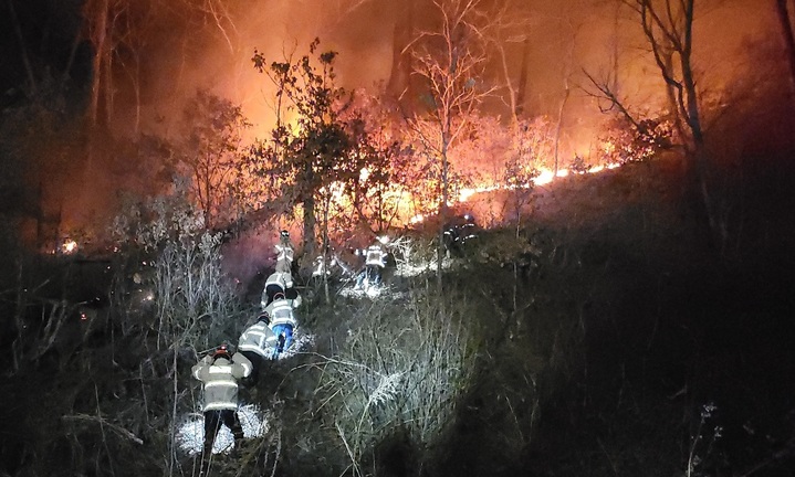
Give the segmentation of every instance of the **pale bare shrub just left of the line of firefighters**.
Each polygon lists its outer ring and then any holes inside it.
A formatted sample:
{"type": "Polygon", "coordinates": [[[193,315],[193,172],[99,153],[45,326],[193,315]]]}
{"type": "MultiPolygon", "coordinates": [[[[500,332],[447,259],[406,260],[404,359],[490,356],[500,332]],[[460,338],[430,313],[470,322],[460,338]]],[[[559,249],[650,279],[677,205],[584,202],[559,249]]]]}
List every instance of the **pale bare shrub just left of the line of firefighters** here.
{"type": "Polygon", "coordinates": [[[129,273],[154,286],[154,331],[158,344],[207,348],[221,335],[239,303],[221,272],[222,234],[207,230],[205,213],[186,201],[187,181],[177,193],[126,201],[112,224],[116,246],[134,262],[129,273]]]}

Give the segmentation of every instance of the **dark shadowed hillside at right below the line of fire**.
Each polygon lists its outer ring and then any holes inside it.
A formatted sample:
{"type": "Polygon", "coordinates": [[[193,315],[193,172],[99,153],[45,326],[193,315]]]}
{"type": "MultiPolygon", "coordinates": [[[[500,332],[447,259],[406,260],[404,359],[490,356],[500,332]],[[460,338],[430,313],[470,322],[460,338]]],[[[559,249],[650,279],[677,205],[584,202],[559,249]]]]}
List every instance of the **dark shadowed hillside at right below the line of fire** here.
{"type": "Polygon", "coordinates": [[[786,475],[795,182],[730,172],[712,233],[676,158],[536,190],[529,305],[462,411],[450,475],[786,475]]]}

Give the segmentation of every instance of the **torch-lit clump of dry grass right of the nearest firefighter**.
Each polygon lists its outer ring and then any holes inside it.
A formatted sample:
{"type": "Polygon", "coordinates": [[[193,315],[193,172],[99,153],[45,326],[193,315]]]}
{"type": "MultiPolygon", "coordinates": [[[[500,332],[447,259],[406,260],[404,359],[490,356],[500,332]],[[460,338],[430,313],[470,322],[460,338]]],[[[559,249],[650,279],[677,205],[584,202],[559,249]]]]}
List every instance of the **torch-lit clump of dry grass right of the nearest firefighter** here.
{"type": "Polygon", "coordinates": [[[412,296],[409,307],[385,300],[358,310],[360,327],[338,354],[316,364],[323,371],[317,415],[336,434],[329,447],[347,456],[354,476],[370,475],[363,465],[399,432],[420,463],[427,459],[471,383],[477,344],[467,298],[412,296]]]}

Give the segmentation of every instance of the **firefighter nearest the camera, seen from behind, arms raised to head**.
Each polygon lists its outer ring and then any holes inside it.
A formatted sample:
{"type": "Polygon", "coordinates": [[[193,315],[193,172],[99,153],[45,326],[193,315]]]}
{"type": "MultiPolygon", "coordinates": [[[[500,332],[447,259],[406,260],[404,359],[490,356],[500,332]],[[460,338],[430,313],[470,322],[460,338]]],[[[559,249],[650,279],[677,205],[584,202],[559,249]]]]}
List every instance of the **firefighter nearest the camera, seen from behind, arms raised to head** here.
{"type": "Polygon", "coordinates": [[[243,427],[238,417],[238,381],[251,374],[251,363],[240,353],[232,356],[227,346],[221,344],[193,365],[192,374],[202,383],[205,400],[205,447],[201,454],[205,475],[221,423],[232,432],[237,448],[243,442],[243,427]]]}

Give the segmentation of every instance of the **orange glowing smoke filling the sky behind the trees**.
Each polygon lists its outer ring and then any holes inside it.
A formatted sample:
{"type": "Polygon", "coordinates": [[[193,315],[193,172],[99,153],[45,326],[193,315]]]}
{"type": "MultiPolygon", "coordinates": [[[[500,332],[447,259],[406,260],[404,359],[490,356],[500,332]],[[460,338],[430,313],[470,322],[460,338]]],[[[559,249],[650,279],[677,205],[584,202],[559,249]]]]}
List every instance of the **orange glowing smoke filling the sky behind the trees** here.
{"type": "MultiPolygon", "coordinates": [[[[273,85],[253,68],[254,50],[269,61],[307,53],[320,38],[321,50],[339,53],[336,61],[342,86],[374,87],[389,80],[395,22],[400,9],[414,3],[416,28],[433,24],[430,0],[251,0],[182,3],[180,14],[167,14],[167,28],[157,30],[146,51],[147,92],[145,124],[160,127],[164,117],[176,117],[186,98],[206,88],[242,105],[254,124],[252,135],[263,137],[273,123],[273,85]]],[[[502,4],[498,0],[484,6],[502,4]]],[[[621,91],[638,103],[659,94],[661,80],[644,51],[639,25],[617,2],[543,0],[509,2],[513,26],[506,30],[508,81],[516,87],[522,65],[522,42],[531,43],[525,110],[557,116],[565,86],[569,87],[564,114],[564,136],[582,142],[577,129],[590,129],[599,110],[585,94],[583,71],[607,74],[618,68],[621,91]]],[[[765,31],[766,11],[753,0],[698,2],[697,55],[704,73],[722,74],[736,55],[740,42],[765,31]],[[701,6],[704,6],[703,8],[701,6]],[[728,34],[731,32],[731,34],[728,34]],[[716,64],[715,64],[716,63],[716,64]]],[[[772,10],[772,8],[771,8],[772,10]]],[[[771,24],[771,23],[768,23],[771,24]]],[[[770,30],[770,29],[767,29],[770,30]]],[[[505,82],[500,61],[492,60],[493,81],[505,82]]],[[[505,89],[503,89],[504,94],[505,89]]],[[[504,98],[503,98],[504,99],[504,98]]],[[[496,113],[503,117],[502,110],[496,113]]],[[[495,104],[500,104],[500,100],[495,104]]]]}

